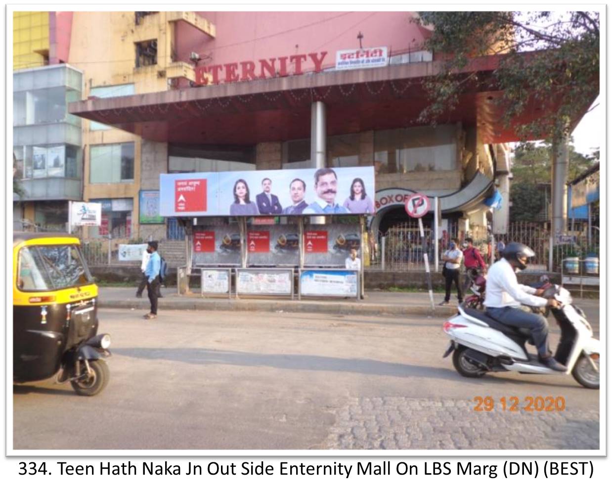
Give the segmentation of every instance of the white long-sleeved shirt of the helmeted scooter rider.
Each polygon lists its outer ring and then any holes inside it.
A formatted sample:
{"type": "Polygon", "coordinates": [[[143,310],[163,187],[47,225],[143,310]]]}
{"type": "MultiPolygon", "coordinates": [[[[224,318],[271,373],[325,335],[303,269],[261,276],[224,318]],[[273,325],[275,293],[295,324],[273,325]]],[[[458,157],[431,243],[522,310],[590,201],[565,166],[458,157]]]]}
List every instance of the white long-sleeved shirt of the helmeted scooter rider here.
{"type": "Polygon", "coordinates": [[[493,308],[519,307],[521,304],[543,307],[548,300],[531,296],[535,289],[518,283],[517,274],[506,258],[502,258],[490,267],[487,275],[485,306],[493,308]]]}

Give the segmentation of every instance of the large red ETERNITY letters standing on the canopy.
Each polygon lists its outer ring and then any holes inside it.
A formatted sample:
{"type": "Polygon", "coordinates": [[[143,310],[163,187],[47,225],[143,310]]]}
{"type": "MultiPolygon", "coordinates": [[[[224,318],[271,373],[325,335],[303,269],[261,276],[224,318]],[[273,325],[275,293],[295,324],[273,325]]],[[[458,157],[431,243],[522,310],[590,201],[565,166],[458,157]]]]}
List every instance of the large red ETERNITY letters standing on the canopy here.
{"type": "MultiPolygon", "coordinates": [[[[368,52],[369,53],[369,52],[368,52]]],[[[225,73],[225,82],[236,82],[239,80],[255,80],[256,78],[266,78],[266,76],[286,77],[289,75],[288,67],[293,65],[293,75],[304,73],[303,64],[308,59],[315,65],[315,73],[323,70],[323,59],[327,51],[320,53],[292,54],[291,56],[279,56],[278,58],[261,59],[257,62],[245,60],[241,62],[231,62],[223,65],[206,65],[195,67],[195,82],[198,85],[206,85],[207,75],[212,75],[212,84],[222,81],[221,73],[225,73]]]]}

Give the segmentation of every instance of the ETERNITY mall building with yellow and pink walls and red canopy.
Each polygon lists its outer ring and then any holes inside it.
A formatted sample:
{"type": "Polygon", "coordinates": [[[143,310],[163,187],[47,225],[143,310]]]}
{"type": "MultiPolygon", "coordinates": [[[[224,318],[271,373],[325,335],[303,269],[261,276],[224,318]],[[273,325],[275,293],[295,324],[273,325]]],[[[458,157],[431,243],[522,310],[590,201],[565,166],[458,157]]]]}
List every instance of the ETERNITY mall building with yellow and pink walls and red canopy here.
{"type": "MultiPolygon", "coordinates": [[[[143,194],[159,190],[162,173],[324,166],[375,166],[376,190],[366,190],[376,198],[373,231],[405,222],[402,197],[416,191],[441,197],[449,228],[485,228],[490,209],[483,202],[496,189],[505,199],[493,212],[493,226],[502,231],[509,205],[506,143],[518,139],[501,125],[500,94],[468,88],[435,127],[419,124],[427,105],[424,81],[441,65],[422,48],[430,31],[411,23],[413,15],[74,12],[69,23],[52,21],[49,29],[64,33],[48,43],[61,47],[63,58],[43,57],[38,62],[51,65],[40,68],[19,65],[13,80],[24,74],[39,80],[37,73],[53,70],[69,74],[61,86],[67,113],[52,124],[76,133],[66,130],[64,140],[53,142],[15,138],[24,170],[23,217],[50,220],[37,212],[35,190],[51,193],[57,177],[48,165],[44,177],[36,174],[28,150],[44,145],[65,149],[54,220],[64,217],[64,206],[67,220],[68,199],[102,203],[103,224],[85,231],[89,237],[179,239],[176,220],[149,220],[141,209],[143,194]]],[[[13,24],[17,32],[18,13],[13,24]]],[[[490,56],[466,70],[485,79],[497,66],[498,57],[490,56]]],[[[27,126],[34,99],[20,84],[14,100],[25,101],[19,121],[25,118],[27,126]]],[[[15,135],[22,131],[17,127],[15,135]]]]}

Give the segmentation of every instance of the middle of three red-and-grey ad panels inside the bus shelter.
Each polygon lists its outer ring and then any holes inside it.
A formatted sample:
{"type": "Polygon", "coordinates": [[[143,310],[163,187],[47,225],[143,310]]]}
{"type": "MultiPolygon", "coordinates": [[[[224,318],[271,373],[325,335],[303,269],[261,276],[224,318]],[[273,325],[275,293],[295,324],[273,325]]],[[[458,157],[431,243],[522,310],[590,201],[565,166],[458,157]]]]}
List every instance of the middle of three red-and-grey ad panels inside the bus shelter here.
{"type": "Polygon", "coordinates": [[[251,226],[247,231],[248,264],[298,265],[299,243],[296,225],[251,226]]]}

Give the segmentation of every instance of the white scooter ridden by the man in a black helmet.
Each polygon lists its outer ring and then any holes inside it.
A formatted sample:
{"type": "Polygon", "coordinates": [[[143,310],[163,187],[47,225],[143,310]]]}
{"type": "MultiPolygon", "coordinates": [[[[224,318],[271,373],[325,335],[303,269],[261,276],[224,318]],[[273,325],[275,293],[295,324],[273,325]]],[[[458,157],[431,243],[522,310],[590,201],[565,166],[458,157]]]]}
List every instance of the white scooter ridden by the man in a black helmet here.
{"type": "Polygon", "coordinates": [[[600,341],[593,337],[584,311],[572,304],[567,289],[550,286],[543,293],[554,297],[561,307],[551,309],[561,327],[561,340],[554,358],[567,367],[565,373],[554,371],[529,354],[525,343],[533,344],[529,329],[510,327],[490,318],[482,311],[459,307],[459,314],[448,319],[442,329],[449,335],[453,365],[461,376],[480,378],[488,372],[518,371],[529,374],[565,374],[582,386],[599,388],[600,341]]]}

